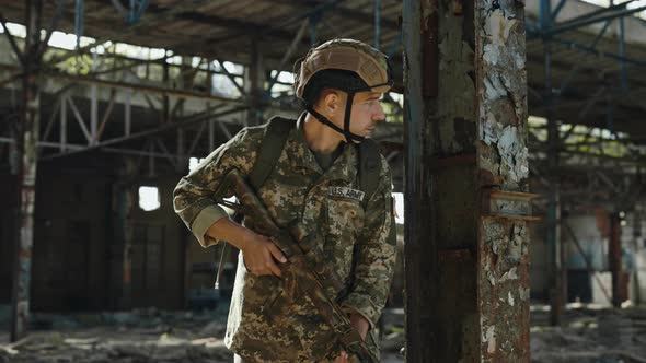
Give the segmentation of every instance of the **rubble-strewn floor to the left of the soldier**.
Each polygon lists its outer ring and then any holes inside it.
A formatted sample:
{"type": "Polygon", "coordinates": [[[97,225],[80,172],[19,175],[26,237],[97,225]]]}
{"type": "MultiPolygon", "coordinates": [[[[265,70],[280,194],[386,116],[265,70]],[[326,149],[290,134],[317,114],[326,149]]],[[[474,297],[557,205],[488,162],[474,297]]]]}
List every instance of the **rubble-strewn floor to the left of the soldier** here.
{"type": "Polygon", "coordinates": [[[0,362],[137,363],[231,362],[222,338],[226,314],[131,313],[34,314],[30,335],[9,343],[0,333],[0,362]]]}

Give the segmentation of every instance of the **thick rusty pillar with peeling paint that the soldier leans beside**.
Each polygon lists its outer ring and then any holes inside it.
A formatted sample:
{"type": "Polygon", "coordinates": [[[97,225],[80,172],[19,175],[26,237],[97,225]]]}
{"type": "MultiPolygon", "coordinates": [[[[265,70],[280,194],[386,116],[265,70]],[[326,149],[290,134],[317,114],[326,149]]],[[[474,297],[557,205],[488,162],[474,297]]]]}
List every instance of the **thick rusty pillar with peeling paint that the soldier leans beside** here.
{"type": "Polygon", "coordinates": [[[529,362],[523,1],[405,0],[407,362],[529,362]]]}

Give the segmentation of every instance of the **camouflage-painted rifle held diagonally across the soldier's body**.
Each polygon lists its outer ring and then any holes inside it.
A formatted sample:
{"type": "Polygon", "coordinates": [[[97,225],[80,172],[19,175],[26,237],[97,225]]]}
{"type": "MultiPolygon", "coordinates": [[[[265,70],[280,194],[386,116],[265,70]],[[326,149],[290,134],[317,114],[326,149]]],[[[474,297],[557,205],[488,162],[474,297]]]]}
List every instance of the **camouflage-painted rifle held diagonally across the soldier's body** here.
{"type": "Polygon", "coordinates": [[[335,298],[327,295],[326,291],[341,291],[343,284],[335,271],[321,262],[322,253],[315,238],[307,235],[296,223],[287,230],[276,225],[266,207],[235,168],[227,173],[217,195],[229,194],[238,198],[240,204],[237,208],[253,221],[255,232],[270,237],[287,257],[287,262],[280,265],[286,293],[292,298],[299,292],[308,294],[348,353],[357,355],[361,362],[378,363],[379,360],[368,350],[335,298]]]}

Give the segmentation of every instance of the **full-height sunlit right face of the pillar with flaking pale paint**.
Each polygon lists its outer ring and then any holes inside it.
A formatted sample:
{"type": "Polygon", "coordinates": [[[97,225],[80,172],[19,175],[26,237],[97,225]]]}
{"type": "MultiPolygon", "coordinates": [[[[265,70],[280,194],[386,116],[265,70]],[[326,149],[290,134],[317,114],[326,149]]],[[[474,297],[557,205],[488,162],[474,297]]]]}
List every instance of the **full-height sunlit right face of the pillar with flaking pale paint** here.
{"type": "MultiPolygon", "coordinates": [[[[528,191],[523,2],[482,1],[475,10],[477,167],[484,189],[528,191]]],[[[486,197],[487,194],[483,194],[486,197]]],[[[481,362],[529,362],[529,199],[494,200],[481,214],[481,362]]]]}

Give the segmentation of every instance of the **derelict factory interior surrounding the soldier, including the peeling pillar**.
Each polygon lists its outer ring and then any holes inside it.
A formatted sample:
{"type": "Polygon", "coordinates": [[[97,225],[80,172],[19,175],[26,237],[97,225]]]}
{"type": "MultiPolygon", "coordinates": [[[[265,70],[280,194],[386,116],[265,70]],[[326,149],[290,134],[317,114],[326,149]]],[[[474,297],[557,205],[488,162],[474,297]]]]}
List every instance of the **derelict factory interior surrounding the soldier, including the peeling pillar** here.
{"type": "Polygon", "coordinates": [[[0,363],[232,362],[237,254],[173,189],[298,118],[295,63],[334,38],[394,74],[381,361],[646,362],[645,0],[0,0],[0,363]]]}

